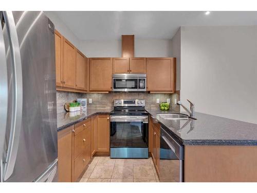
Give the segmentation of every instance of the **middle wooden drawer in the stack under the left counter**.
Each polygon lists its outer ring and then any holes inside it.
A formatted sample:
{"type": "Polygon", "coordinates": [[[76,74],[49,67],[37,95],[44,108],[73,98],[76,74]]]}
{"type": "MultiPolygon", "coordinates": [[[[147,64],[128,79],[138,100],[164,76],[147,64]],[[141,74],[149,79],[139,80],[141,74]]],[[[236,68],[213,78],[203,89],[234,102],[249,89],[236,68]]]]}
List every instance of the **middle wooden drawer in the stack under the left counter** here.
{"type": "Polygon", "coordinates": [[[86,147],[90,147],[90,127],[74,137],[74,157],[76,158],[86,147]]]}

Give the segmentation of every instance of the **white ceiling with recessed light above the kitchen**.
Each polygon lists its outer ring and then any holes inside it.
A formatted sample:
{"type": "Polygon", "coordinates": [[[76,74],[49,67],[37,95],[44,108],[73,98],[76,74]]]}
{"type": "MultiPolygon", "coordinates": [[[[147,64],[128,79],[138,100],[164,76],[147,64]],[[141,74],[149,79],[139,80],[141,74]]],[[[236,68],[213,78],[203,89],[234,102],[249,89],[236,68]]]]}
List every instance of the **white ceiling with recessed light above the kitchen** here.
{"type": "Polygon", "coordinates": [[[80,40],[171,39],[180,26],[257,25],[257,11],[54,11],[80,40]]]}

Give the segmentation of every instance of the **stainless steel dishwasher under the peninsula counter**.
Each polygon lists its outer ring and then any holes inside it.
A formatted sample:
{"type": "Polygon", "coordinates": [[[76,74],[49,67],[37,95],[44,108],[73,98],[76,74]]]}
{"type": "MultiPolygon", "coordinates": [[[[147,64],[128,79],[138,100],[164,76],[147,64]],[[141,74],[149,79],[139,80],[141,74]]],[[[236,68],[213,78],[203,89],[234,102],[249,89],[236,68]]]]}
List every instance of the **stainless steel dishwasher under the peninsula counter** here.
{"type": "Polygon", "coordinates": [[[161,127],[160,182],[183,182],[183,158],[183,145],[161,127]]]}

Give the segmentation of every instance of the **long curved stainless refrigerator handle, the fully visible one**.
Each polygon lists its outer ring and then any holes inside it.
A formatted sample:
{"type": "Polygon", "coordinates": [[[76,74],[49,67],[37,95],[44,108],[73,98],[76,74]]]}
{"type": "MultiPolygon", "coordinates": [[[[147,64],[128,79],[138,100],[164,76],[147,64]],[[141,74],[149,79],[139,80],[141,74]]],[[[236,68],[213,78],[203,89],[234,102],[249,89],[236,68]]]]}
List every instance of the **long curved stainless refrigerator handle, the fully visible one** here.
{"type": "Polygon", "coordinates": [[[19,146],[20,131],[22,127],[23,83],[20,46],[13,14],[11,11],[4,11],[3,14],[6,22],[6,28],[9,33],[10,51],[14,74],[14,100],[12,122],[10,128],[10,139],[6,159],[3,160],[3,178],[4,181],[6,181],[13,172],[19,146]]]}

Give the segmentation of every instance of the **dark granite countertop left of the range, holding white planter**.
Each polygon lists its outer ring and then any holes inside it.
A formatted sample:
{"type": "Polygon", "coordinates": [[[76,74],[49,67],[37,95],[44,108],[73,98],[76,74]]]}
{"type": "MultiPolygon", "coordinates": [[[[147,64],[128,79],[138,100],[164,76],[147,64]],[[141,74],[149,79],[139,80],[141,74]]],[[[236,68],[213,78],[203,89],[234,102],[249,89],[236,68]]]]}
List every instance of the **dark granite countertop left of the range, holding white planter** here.
{"type": "Polygon", "coordinates": [[[95,114],[111,113],[113,109],[88,109],[86,112],[63,112],[57,114],[57,131],[61,131],[66,127],[76,124],[95,114]],[[76,115],[77,113],[77,115],[76,115]],[[75,116],[74,116],[75,115],[75,116]]]}

